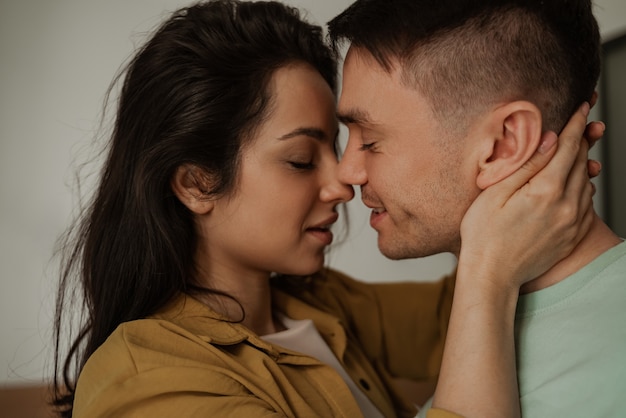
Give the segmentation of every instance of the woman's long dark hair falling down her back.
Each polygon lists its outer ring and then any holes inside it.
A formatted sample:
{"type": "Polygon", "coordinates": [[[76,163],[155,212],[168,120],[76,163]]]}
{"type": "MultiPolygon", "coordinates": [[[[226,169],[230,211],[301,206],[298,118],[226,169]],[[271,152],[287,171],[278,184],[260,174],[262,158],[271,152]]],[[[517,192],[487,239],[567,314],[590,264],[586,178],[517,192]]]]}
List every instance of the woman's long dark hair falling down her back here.
{"type": "Polygon", "coordinates": [[[100,182],[61,241],[59,416],[72,416],[80,370],[119,324],[193,289],[193,221],[170,179],[189,163],[216,180],[209,195],[232,191],[241,147],[269,111],[271,76],[293,62],[336,90],[320,27],[277,2],[218,0],[175,12],[116,78],[123,84],[100,182]]]}

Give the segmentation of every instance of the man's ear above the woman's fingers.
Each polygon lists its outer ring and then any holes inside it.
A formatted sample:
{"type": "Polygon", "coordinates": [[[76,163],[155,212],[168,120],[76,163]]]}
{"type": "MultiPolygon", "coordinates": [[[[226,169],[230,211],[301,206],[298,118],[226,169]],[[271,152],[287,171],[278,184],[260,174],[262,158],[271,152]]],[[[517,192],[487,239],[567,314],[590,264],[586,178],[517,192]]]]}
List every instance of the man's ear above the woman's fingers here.
{"type": "Polygon", "coordinates": [[[476,184],[481,190],[518,170],[535,153],[541,140],[541,111],[527,101],[498,107],[483,132],[487,143],[479,162],[476,184]]]}

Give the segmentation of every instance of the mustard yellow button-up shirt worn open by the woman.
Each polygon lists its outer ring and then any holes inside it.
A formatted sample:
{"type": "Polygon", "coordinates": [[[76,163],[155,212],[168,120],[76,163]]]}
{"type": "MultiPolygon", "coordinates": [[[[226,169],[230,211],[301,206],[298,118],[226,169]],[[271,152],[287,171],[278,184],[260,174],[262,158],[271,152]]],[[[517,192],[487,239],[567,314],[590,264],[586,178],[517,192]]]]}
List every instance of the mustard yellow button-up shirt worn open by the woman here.
{"type": "MultiPolygon", "coordinates": [[[[324,273],[302,286],[277,284],[275,308],[312,319],[383,415],[415,416],[394,379],[436,380],[454,277],[363,283],[324,273]]],[[[187,295],[120,325],[85,364],[74,402],[76,418],[360,416],[332,367],[265,342],[187,295]]]]}

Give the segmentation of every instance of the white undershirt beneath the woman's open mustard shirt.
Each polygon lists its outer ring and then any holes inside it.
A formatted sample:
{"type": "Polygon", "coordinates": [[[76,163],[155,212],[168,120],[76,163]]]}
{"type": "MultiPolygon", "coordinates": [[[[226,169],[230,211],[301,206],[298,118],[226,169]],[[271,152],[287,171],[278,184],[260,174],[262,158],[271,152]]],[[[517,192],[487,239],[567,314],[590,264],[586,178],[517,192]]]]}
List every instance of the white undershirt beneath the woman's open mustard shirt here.
{"type": "Polygon", "coordinates": [[[307,354],[333,367],[350,388],[350,392],[352,392],[361,408],[363,416],[366,418],[384,418],[378,408],[348,376],[346,370],[339,363],[335,354],[317,331],[317,328],[315,328],[312,320],[295,320],[284,316],[280,320],[287,329],[275,334],[263,335],[261,337],[263,340],[307,354]]]}

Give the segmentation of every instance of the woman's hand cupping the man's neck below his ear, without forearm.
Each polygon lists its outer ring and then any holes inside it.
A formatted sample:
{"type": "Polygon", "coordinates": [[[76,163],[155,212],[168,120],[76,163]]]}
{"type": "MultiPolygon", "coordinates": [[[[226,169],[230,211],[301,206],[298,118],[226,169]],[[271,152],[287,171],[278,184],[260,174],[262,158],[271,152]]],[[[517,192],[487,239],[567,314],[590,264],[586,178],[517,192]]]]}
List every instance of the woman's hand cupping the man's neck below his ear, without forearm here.
{"type": "Polygon", "coordinates": [[[580,242],[593,218],[595,188],[589,177],[600,171],[587,152],[604,131],[602,123],[585,129],[588,112],[588,104],[581,106],[558,145],[556,134],[545,133],[523,167],[474,201],[461,225],[460,262],[499,270],[499,279],[519,289],[580,242]],[[588,140],[581,139],[583,133],[588,140]]]}

